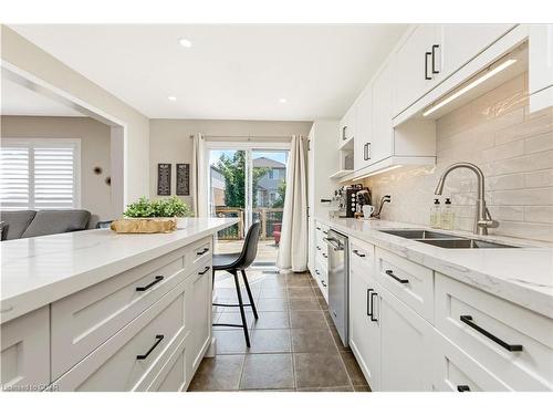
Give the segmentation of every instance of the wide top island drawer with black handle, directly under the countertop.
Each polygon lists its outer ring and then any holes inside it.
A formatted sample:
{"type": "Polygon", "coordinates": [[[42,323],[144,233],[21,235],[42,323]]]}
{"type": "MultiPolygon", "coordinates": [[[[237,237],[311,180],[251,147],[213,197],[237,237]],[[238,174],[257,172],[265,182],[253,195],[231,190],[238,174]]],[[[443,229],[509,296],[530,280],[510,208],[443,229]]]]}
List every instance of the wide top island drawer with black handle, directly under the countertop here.
{"type": "Polygon", "coordinates": [[[177,250],[54,302],[52,381],[175,288],[184,262],[177,250]]]}

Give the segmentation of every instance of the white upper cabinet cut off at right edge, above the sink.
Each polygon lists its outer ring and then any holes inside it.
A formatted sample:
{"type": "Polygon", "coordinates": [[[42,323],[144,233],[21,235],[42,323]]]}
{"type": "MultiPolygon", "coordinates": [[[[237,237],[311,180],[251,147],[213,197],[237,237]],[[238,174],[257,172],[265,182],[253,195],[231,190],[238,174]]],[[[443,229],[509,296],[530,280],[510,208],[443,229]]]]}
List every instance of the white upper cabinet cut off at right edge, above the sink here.
{"type": "Polygon", "coordinates": [[[530,112],[553,105],[553,24],[530,24],[530,112]]]}

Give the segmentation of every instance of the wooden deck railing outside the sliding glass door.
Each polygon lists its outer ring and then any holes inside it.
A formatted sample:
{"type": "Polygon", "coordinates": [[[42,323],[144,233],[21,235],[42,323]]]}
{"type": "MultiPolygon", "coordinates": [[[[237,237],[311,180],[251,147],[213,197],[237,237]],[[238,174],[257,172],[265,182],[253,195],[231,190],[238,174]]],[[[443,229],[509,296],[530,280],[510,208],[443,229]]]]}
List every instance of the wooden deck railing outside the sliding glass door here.
{"type": "MultiPolygon", "coordinates": [[[[261,239],[273,238],[273,232],[280,230],[282,224],[282,208],[253,208],[253,221],[261,222],[261,239]]],[[[216,207],[215,214],[218,218],[238,218],[238,224],[220,230],[219,239],[243,239],[244,238],[244,221],[246,209],[239,207],[216,207]]]]}

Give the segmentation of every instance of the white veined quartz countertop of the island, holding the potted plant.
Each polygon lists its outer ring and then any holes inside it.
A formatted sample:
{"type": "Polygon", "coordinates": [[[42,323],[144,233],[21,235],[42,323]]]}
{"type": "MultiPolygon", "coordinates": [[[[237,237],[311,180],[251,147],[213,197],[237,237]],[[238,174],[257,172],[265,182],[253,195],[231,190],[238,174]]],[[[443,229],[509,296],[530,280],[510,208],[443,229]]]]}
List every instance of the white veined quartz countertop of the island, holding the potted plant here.
{"type": "Polygon", "coordinates": [[[123,235],[95,229],[3,241],[0,319],[7,322],[237,221],[189,218],[186,228],[170,234],[123,235]]]}

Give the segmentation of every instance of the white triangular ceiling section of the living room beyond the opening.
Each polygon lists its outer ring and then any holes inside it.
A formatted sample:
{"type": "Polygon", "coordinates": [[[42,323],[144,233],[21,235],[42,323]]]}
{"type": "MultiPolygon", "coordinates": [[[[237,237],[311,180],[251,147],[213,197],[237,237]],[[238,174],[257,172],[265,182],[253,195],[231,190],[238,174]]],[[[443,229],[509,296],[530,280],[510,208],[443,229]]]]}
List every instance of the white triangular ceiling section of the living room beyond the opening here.
{"type": "Polygon", "coordinates": [[[2,73],[2,115],[34,116],[85,116],[75,110],[59,104],[3,76],[2,73]]]}

